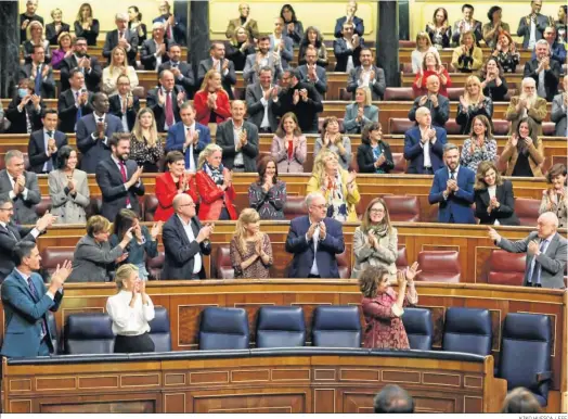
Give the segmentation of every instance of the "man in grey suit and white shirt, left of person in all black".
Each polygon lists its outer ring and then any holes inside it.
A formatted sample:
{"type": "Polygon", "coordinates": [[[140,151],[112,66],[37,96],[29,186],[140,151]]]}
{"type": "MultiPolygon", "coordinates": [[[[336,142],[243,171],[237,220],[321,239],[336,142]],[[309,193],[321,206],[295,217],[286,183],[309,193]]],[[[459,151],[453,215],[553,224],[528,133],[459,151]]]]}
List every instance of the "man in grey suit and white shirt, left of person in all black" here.
{"type": "Polygon", "coordinates": [[[275,132],[279,126],[272,112],[272,104],[279,99],[280,89],[272,85],[272,68],[260,68],[258,81],[246,88],[248,122],[255,124],[259,132],[275,132]]]}

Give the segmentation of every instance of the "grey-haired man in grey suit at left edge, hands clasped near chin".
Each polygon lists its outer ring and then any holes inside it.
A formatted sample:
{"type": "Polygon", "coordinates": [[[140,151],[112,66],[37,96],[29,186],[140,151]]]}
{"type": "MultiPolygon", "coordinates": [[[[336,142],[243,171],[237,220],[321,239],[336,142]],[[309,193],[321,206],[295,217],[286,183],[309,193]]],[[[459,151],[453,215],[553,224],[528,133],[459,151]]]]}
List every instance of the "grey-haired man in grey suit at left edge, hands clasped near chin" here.
{"type": "Polygon", "coordinates": [[[24,170],[24,154],[10,150],[4,157],[5,169],[0,172],[0,199],[14,203],[16,224],[35,224],[38,220],[36,205],[41,201],[38,177],[24,170]]]}

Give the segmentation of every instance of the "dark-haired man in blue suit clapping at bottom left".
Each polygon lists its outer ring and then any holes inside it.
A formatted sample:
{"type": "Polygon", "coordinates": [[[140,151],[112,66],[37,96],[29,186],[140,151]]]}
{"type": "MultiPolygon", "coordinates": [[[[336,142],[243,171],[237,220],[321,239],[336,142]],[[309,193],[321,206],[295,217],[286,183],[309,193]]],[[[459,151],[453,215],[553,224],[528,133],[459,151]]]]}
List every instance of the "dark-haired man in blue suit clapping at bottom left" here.
{"type": "Polygon", "coordinates": [[[65,261],[52,276],[49,287],[36,274],[41,256],[33,241],[16,244],[13,250],[16,267],[2,283],[5,332],[3,356],[11,358],[49,356],[55,351],[48,312],[56,312],[63,300],[63,284],[70,274],[70,262],[65,261]]]}

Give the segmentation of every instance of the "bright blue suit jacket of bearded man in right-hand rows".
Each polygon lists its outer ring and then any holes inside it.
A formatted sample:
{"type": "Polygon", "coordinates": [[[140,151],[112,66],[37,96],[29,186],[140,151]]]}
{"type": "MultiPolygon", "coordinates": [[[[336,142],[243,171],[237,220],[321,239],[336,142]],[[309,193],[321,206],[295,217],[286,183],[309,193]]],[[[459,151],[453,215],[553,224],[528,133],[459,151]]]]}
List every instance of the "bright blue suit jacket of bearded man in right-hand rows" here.
{"type": "Polygon", "coordinates": [[[443,166],[438,169],[434,174],[434,181],[428,195],[430,205],[439,203],[438,221],[450,223],[450,217],[453,217],[453,223],[476,224],[474,211],[472,210],[475,172],[465,166],[460,166],[457,172],[457,192],[449,194],[448,200],[444,200],[442,193],[446,191],[448,179],[450,179],[448,167],[443,166]]]}

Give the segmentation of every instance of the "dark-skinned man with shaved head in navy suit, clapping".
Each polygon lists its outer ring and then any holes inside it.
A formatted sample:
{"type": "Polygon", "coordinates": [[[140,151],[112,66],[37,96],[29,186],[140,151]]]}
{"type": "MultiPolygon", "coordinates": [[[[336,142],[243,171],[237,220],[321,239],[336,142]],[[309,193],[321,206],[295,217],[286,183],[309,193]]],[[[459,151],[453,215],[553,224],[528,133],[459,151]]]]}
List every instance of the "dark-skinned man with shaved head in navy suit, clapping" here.
{"type": "Polygon", "coordinates": [[[120,119],[108,113],[108,97],[99,92],[93,96],[93,113],[77,123],[77,148],[82,153],[81,170],[95,172],[96,165],[111,155],[109,139],[115,132],[124,132],[120,119]]]}

